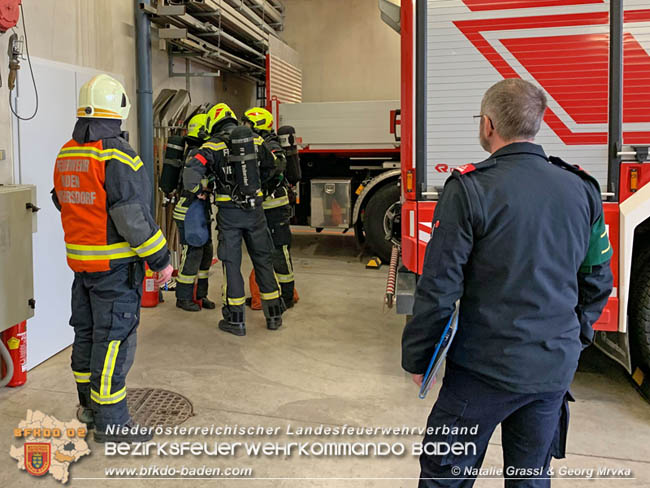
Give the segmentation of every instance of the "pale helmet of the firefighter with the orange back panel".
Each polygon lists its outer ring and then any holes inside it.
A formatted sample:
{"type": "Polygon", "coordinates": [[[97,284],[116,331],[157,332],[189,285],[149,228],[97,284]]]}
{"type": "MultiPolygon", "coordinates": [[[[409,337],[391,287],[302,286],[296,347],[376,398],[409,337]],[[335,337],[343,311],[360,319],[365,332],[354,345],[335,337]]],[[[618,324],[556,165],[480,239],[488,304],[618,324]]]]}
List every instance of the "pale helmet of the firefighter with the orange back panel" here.
{"type": "Polygon", "coordinates": [[[126,120],[131,110],[122,83],[97,75],[79,90],[77,117],[126,120]]]}

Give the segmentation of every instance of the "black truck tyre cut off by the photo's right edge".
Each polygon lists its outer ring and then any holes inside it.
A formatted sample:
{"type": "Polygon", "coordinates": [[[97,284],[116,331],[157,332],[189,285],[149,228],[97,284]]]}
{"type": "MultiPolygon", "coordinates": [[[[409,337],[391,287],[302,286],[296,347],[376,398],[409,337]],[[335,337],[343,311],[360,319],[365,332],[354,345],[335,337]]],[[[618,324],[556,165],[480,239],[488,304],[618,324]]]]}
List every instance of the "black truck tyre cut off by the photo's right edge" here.
{"type": "Polygon", "coordinates": [[[650,262],[641,260],[632,273],[630,345],[635,363],[650,371],[650,262]]]}

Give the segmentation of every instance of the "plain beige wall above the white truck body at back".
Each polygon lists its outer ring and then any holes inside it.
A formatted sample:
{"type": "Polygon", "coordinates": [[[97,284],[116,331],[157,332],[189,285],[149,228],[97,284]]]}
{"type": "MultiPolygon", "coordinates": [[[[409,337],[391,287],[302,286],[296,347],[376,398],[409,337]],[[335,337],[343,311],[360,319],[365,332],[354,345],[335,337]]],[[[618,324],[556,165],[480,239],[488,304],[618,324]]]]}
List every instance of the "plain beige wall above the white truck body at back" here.
{"type": "Polygon", "coordinates": [[[304,102],[399,99],[399,35],[381,20],[377,0],[284,4],[283,37],[300,54],[304,102]]]}

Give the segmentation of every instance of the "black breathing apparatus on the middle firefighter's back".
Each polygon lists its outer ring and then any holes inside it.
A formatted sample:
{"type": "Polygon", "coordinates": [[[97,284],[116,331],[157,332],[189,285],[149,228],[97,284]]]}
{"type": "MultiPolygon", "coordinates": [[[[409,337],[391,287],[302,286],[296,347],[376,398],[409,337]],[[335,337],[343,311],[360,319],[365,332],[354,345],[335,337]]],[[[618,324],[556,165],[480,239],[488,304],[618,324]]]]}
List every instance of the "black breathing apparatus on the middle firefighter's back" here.
{"type": "Polygon", "coordinates": [[[246,126],[238,126],[230,133],[218,134],[228,146],[221,175],[232,202],[240,208],[254,208],[261,204],[262,178],[257,158],[255,134],[246,126]]]}

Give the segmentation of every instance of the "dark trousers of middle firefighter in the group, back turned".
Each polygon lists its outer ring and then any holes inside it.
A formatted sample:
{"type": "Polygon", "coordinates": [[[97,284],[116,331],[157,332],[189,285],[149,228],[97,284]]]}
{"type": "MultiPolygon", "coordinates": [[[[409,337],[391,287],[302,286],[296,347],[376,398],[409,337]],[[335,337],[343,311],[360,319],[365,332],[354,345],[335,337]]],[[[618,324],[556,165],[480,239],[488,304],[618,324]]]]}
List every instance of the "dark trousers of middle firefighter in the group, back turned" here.
{"type": "Polygon", "coordinates": [[[262,207],[241,209],[220,206],[217,212],[219,231],[217,256],[223,264],[223,317],[229,322],[244,323],[246,302],[241,274],[242,240],[253,262],[266,318],[278,317],[283,307],[273,272],[273,239],[266,225],[262,207]]]}

